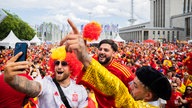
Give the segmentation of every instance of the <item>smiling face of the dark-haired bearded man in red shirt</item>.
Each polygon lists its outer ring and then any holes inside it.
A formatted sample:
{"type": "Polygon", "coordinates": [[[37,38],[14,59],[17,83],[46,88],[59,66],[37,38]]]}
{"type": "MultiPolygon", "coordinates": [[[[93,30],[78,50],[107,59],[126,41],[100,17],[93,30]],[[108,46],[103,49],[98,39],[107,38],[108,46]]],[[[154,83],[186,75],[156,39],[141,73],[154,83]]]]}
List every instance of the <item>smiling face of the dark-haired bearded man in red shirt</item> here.
{"type": "Polygon", "coordinates": [[[113,51],[111,45],[109,44],[102,44],[98,49],[98,61],[102,65],[108,64],[111,62],[115,51],[113,51]]]}

